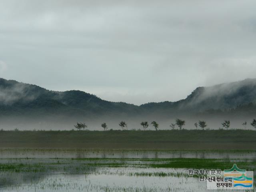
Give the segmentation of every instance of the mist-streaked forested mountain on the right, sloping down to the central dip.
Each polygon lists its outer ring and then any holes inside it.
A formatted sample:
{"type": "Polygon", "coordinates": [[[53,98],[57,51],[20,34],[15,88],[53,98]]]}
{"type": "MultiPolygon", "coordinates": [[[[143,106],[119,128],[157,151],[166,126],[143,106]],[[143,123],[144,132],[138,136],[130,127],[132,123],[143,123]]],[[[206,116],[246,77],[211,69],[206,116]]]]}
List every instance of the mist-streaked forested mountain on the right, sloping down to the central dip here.
{"type": "Polygon", "coordinates": [[[256,79],[198,87],[186,99],[177,102],[148,103],[141,107],[146,110],[169,112],[204,112],[210,109],[234,109],[249,103],[256,103],[256,79]]]}

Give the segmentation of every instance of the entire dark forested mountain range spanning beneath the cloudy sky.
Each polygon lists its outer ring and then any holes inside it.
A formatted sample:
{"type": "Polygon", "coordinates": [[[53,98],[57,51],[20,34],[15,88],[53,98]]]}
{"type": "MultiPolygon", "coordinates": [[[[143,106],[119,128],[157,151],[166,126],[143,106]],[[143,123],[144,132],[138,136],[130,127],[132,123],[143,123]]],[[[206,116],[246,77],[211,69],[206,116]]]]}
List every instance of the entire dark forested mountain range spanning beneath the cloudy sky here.
{"type": "Polygon", "coordinates": [[[147,116],[197,114],[218,111],[256,112],[256,79],[198,87],[177,102],[141,106],[109,102],[79,90],[50,91],[40,86],[0,78],[0,116],[147,116]]]}

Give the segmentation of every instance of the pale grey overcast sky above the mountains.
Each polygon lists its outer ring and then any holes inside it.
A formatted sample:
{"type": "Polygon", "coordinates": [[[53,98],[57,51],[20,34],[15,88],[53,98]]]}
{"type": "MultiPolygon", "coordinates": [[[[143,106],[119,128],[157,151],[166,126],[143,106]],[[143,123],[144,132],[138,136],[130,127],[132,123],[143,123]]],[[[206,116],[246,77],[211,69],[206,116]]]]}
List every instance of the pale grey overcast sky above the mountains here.
{"type": "Polygon", "coordinates": [[[255,0],[0,0],[0,76],[134,104],[256,78],[255,0]]]}

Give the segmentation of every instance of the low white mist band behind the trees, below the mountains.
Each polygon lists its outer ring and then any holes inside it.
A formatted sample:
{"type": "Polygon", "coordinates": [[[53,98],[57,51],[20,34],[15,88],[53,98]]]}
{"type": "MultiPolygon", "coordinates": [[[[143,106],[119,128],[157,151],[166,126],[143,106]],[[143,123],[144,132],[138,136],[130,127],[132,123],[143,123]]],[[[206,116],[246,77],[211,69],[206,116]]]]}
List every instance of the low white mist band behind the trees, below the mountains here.
{"type": "Polygon", "coordinates": [[[238,117],[238,118],[220,118],[220,117],[184,117],[177,116],[168,119],[164,119],[161,117],[120,117],[120,118],[52,118],[52,117],[44,117],[44,118],[29,118],[29,117],[9,117],[9,118],[1,118],[0,130],[76,130],[74,125],[76,123],[85,123],[87,128],[84,130],[104,130],[102,128],[102,123],[106,123],[106,130],[122,130],[119,126],[121,121],[126,122],[127,127],[124,127],[124,130],[144,130],[140,125],[141,122],[148,122],[149,126],[146,130],[156,130],[154,126],[152,126],[151,122],[156,121],[159,124],[158,130],[172,130],[170,127],[171,124],[175,124],[174,129],[180,129],[176,125],[176,118],[180,118],[185,121],[185,125],[182,126],[182,129],[192,130],[192,129],[202,129],[200,128],[198,122],[199,120],[206,122],[206,127],[204,130],[217,130],[217,129],[226,129],[222,126],[222,123],[225,120],[230,121],[230,127],[228,129],[243,129],[243,130],[256,130],[254,127],[250,125],[253,118],[252,117],[238,117]],[[247,122],[246,125],[242,125],[244,122],[247,122]],[[194,125],[198,124],[198,127],[194,125]]]}

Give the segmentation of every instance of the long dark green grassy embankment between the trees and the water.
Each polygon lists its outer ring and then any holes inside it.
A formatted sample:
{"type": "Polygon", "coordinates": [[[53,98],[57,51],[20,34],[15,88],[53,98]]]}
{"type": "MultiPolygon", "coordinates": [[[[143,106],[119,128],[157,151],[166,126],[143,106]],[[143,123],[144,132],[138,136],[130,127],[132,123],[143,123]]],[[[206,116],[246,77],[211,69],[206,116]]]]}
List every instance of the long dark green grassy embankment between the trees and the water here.
{"type": "Polygon", "coordinates": [[[0,147],[255,150],[253,130],[0,131],[0,147]]]}

